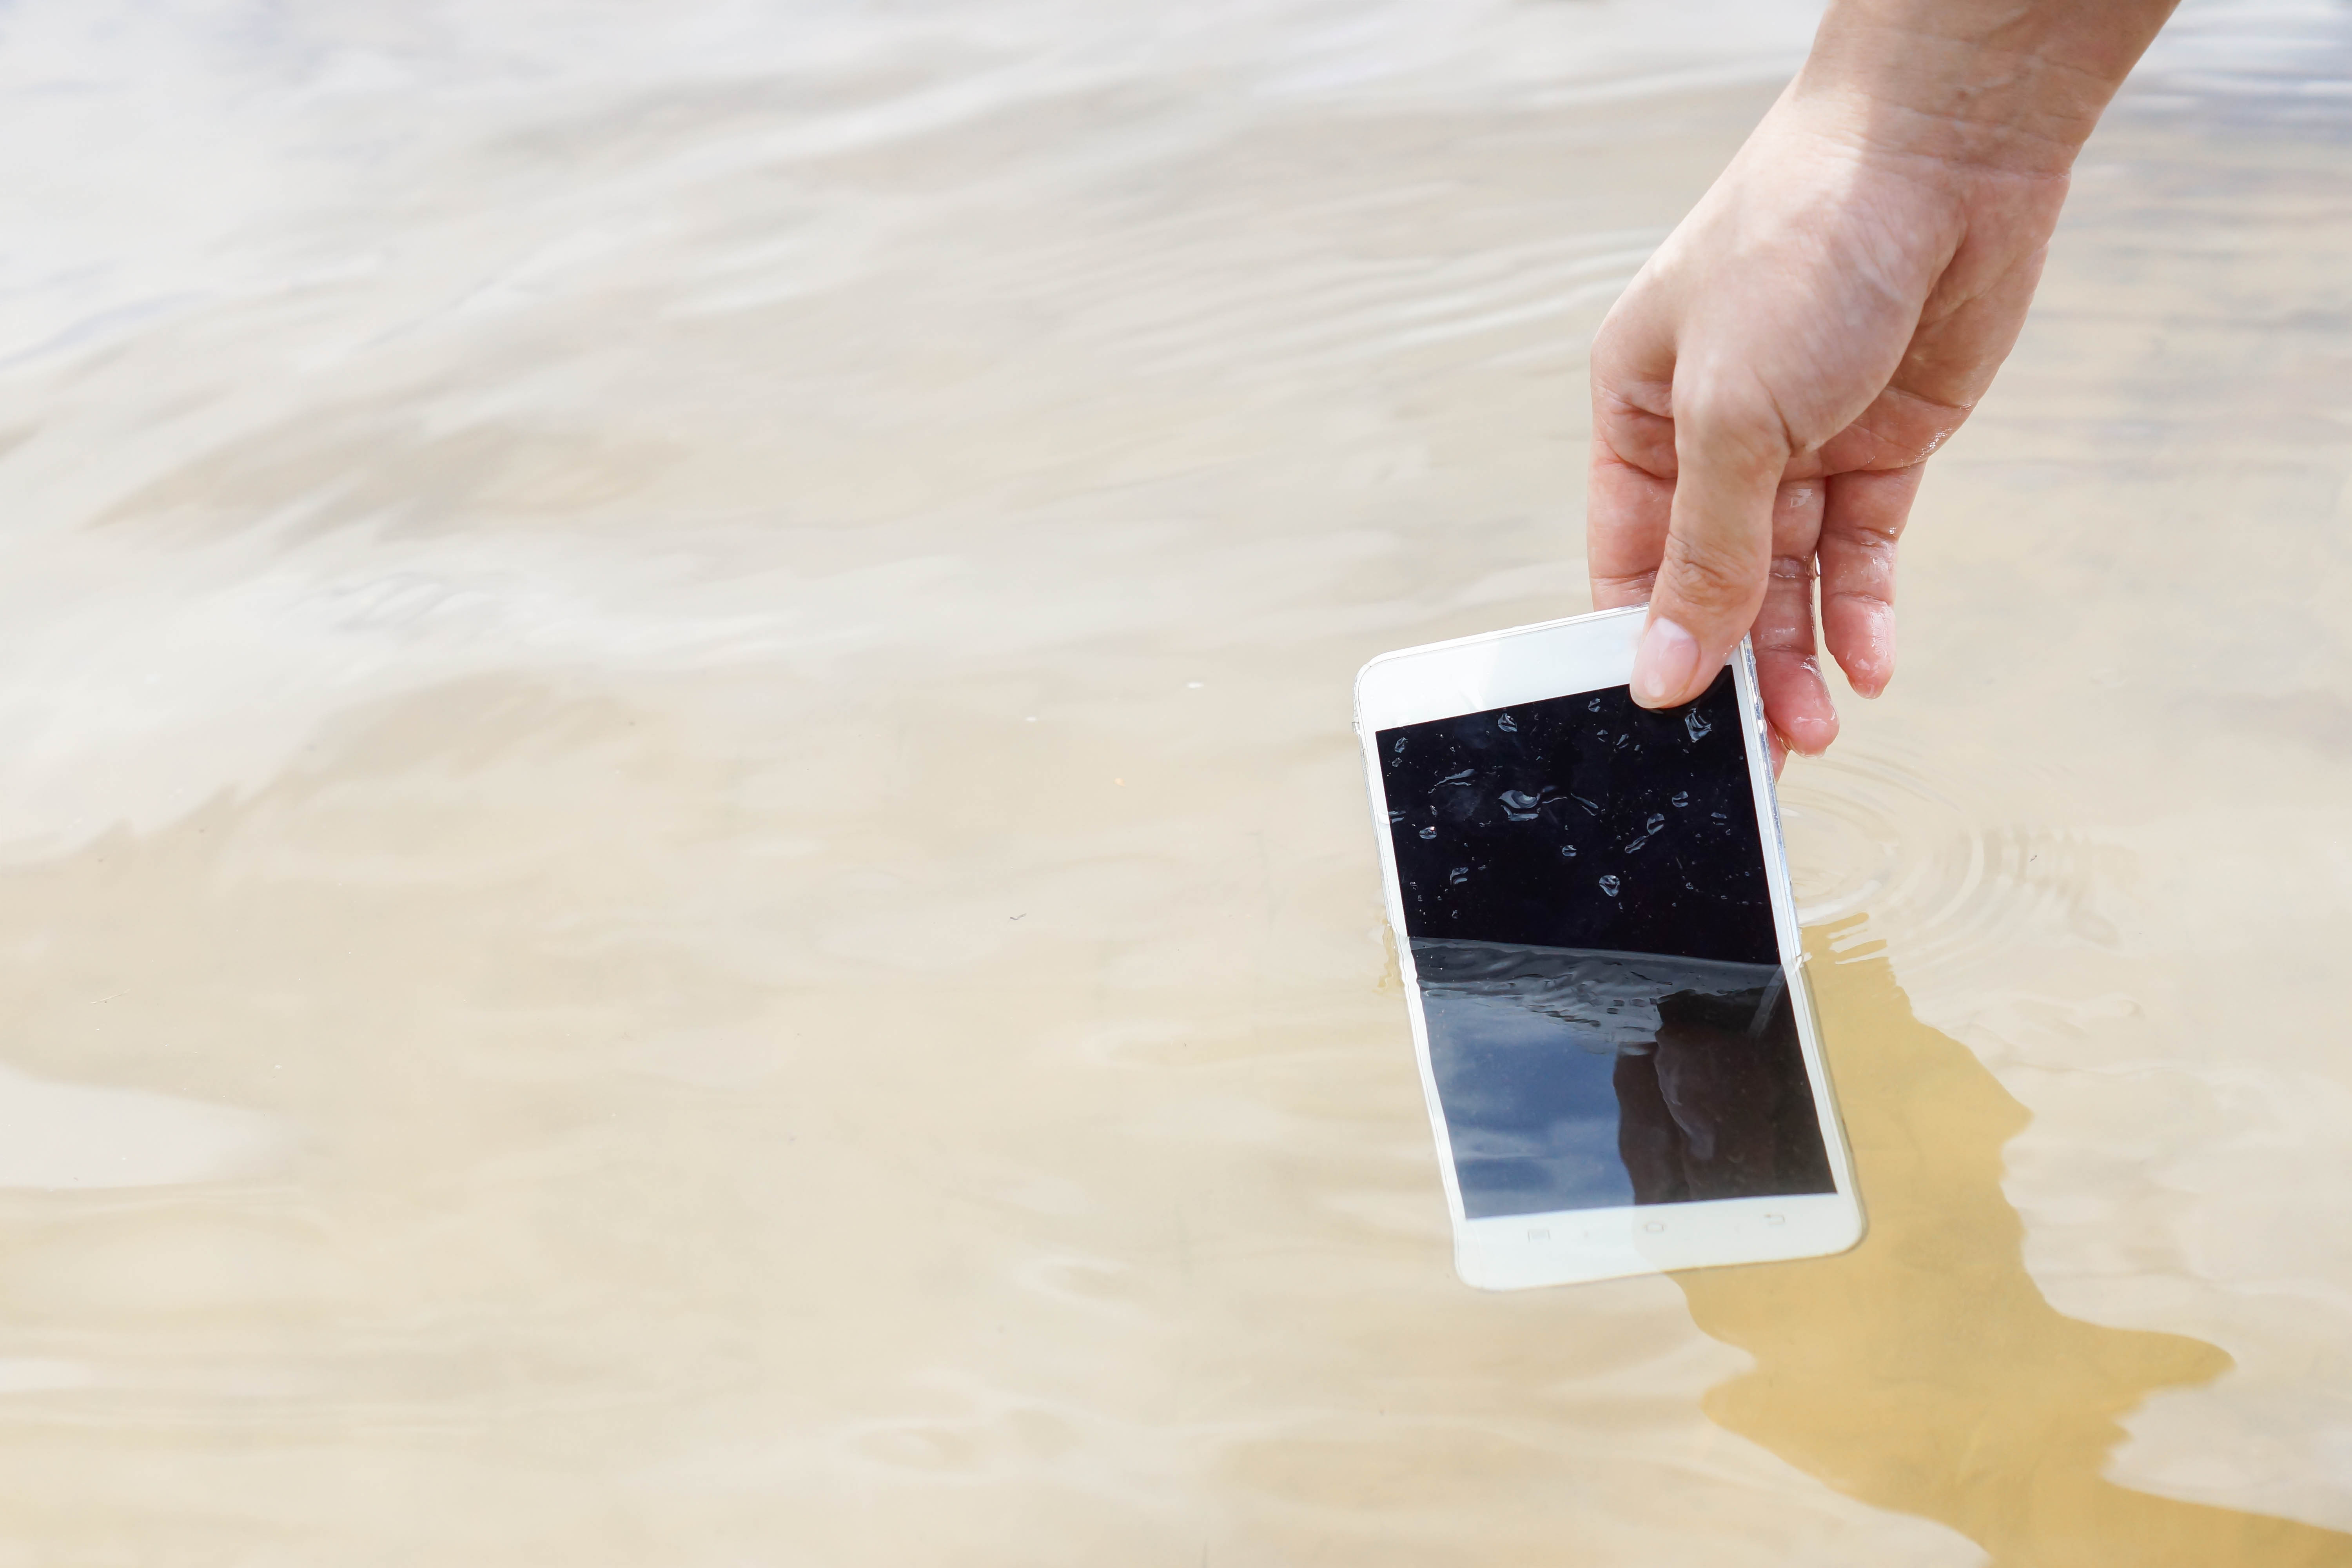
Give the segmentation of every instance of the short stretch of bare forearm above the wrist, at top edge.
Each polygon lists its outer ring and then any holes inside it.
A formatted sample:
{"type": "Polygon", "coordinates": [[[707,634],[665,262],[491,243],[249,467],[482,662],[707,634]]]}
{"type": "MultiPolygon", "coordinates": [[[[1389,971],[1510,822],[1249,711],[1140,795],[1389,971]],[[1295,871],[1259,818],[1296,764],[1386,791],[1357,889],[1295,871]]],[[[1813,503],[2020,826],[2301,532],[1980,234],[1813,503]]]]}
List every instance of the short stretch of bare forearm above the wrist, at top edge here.
{"type": "Polygon", "coordinates": [[[2176,0],[1835,0],[1790,89],[1891,158],[2065,174],[2176,0]]]}

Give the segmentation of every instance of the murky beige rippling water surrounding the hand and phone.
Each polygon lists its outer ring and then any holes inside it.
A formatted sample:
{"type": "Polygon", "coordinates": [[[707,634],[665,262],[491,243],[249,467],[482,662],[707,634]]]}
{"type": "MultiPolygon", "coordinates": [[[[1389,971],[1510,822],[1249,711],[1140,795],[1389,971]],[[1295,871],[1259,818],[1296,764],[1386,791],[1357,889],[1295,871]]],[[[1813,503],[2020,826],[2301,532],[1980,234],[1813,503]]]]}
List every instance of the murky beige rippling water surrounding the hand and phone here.
{"type": "Polygon", "coordinates": [[[1348,675],[1780,5],[0,16],[0,1563],[2352,1561],[2352,12],[1785,785],[1872,1239],[1472,1295],[1348,675]]]}

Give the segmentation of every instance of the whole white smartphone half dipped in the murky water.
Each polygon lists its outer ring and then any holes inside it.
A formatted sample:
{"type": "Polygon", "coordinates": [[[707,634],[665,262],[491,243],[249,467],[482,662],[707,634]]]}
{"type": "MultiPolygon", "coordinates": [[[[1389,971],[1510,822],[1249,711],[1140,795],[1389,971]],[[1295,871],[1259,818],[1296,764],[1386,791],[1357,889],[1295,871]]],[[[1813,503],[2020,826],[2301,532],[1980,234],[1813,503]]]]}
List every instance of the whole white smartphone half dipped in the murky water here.
{"type": "Polygon", "coordinates": [[[1639,609],[1374,658],[1355,726],[1465,1284],[1863,1237],[1755,656],[1637,708],[1639,609]]]}

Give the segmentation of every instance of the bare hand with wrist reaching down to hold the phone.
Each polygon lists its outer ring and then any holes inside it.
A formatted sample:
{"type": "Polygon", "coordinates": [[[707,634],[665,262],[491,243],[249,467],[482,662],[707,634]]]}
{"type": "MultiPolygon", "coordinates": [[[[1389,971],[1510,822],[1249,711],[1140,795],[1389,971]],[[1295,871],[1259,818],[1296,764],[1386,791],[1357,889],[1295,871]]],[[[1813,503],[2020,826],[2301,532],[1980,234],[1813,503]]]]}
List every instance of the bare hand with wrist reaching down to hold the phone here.
{"type": "Polygon", "coordinates": [[[2025,322],[2067,169],[2169,0],[1846,0],[1592,346],[1592,602],[1649,599],[1632,693],[1755,632],[1773,764],[1893,675],[1922,463],[2025,322]],[[1971,31],[1973,28],[1973,31],[1971,31]]]}

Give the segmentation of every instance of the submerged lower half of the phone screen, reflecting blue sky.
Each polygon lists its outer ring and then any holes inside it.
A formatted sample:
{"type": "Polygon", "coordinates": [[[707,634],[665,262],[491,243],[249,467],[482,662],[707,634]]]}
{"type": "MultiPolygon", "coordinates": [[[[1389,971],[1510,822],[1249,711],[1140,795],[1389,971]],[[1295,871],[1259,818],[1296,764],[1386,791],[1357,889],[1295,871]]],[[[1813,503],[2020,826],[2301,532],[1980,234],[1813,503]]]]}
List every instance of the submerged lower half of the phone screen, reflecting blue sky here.
{"type": "Polygon", "coordinates": [[[1416,940],[1472,1220],[1832,1192],[1776,964],[1416,940]]]}

